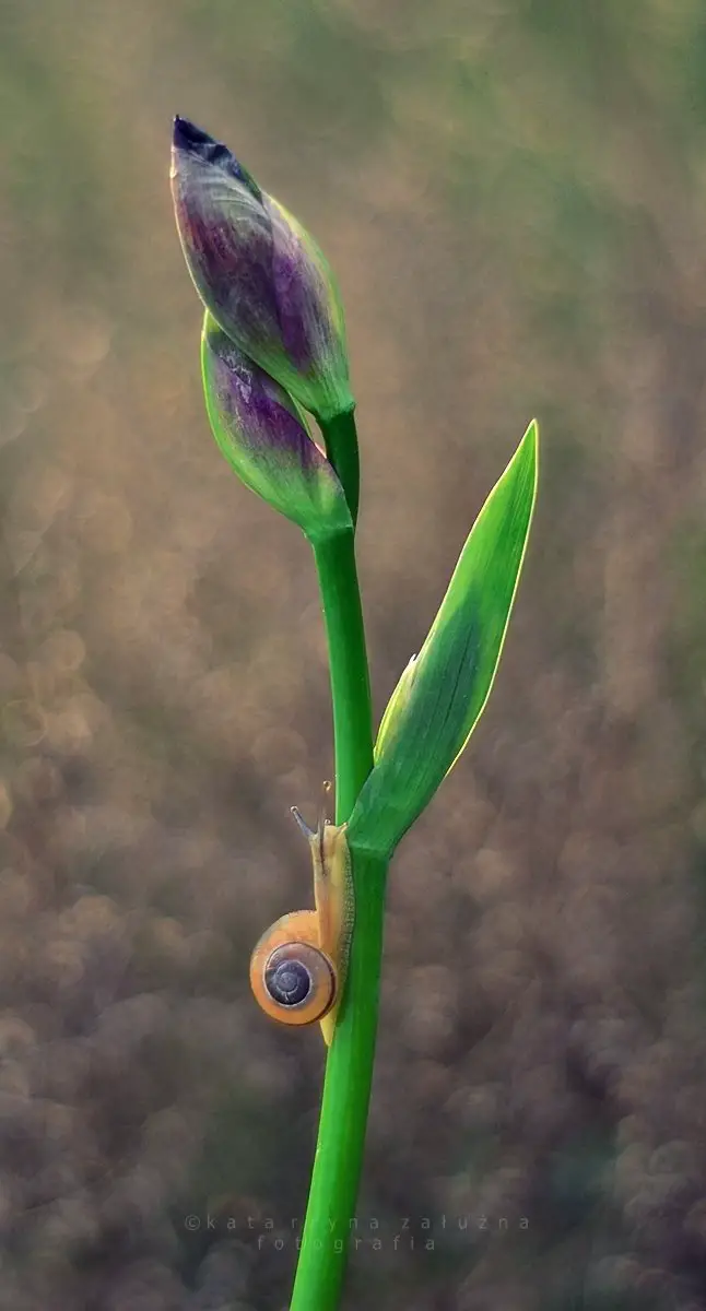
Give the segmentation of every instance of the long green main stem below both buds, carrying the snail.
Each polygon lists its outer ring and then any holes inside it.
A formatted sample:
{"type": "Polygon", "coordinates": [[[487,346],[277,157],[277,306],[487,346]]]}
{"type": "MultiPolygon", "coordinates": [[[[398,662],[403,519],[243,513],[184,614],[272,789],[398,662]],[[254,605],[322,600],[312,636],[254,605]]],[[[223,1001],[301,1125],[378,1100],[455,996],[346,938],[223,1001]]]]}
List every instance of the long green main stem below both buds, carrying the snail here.
{"type": "MultiPolygon", "coordinates": [[[[314,544],[328,637],[336,743],[336,823],[345,823],[373,767],[370,679],[353,532],[314,544]]],[[[336,1311],[365,1130],[382,964],[387,860],[350,851],[356,923],[344,998],[328,1051],[319,1138],[290,1311],[336,1311]]]]}

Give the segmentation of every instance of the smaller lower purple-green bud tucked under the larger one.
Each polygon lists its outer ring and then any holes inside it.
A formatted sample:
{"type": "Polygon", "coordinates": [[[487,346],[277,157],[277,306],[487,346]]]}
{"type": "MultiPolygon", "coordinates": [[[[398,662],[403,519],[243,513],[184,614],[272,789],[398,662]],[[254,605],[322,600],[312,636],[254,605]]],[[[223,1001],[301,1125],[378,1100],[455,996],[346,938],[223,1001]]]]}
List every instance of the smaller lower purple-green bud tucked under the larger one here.
{"type": "Polygon", "coordinates": [[[201,362],[214,437],[243,482],[310,541],[352,528],[344,489],[297,402],[207,312],[201,362]]]}

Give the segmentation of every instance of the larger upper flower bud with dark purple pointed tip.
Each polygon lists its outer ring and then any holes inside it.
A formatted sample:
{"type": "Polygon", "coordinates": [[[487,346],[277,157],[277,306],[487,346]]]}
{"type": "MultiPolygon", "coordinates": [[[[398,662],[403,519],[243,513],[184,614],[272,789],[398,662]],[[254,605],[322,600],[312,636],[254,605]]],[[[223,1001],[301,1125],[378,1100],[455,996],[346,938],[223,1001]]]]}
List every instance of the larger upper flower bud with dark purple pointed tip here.
{"type": "Polygon", "coordinates": [[[186,264],[215,321],[316,418],[352,409],[339,290],[312,237],[185,118],[171,176],[186,264]]]}

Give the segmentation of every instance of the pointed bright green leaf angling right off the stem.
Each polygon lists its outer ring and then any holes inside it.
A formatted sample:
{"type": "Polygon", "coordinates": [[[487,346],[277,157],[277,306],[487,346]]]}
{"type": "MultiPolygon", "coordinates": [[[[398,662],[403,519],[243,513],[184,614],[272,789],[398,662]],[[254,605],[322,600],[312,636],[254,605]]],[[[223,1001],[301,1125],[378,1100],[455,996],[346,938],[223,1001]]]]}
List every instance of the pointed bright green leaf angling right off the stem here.
{"type": "Polygon", "coordinates": [[[486,708],[537,499],[538,440],[533,420],[471,528],[419,657],[390,697],[375,766],[349,821],[353,847],[391,855],[486,708]]]}

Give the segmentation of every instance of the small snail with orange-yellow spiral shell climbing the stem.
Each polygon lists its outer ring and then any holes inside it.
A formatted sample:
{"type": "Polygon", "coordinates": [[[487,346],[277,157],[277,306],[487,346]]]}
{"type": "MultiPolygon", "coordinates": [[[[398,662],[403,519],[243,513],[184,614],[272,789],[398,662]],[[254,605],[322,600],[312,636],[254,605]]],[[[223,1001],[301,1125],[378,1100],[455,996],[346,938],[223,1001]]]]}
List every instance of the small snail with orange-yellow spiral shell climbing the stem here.
{"type": "Polygon", "coordinates": [[[251,987],[273,1020],[319,1023],[331,1046],[354,918],[346,826],[328,823],[322,810],[314,830],[297,806],[291,813],[311,848],[316,909],[282,915],[262,933],[251,957],[251,987]]]}

